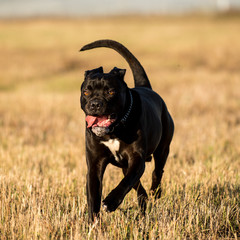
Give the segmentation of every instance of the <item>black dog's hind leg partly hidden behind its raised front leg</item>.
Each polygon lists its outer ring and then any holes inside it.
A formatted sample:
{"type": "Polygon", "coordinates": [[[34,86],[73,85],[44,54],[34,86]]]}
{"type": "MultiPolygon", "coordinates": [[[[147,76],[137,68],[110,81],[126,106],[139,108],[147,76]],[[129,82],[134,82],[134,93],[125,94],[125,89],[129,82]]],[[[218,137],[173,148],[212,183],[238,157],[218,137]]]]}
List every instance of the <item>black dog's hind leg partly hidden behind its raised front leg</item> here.
{"type": "MultiPolygon", "coordinates": [[[[123,168],[122,171],[123,171],[124,176],[126,176],[127,169],[123,168]]],[[[147,192],[144,189],[140,180],[133,186],[133,189],[135,189],[137,192],[138,206],[140,207],[142,213],[144,214],[146,211],[146,207],[147,207],[147,199],[148,199],[147,192]]]]}

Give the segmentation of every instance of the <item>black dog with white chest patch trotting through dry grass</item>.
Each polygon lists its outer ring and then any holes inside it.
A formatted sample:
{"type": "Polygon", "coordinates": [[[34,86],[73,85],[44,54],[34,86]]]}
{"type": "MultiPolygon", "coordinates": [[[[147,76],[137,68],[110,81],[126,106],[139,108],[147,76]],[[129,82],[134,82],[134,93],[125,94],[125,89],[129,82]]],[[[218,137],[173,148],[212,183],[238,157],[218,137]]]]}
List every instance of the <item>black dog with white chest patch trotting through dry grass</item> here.
{"type": "Polygon", "coordinates": [[[81,86],[81,107],[86,114],[87,200],[89,218],[100,211],[102,178],[111,163],[122,168],[124,178],[103,200],[106,211],[114,211],[125,195],[134,188],[138,204],[145,211],[147,193],[140,178],[145,162],[153,154],[155,170],[151,191],[161,196],[161,178],[166,163],[174,124],[162,98],[152,90],[148,77],[138,60],[123,45],[112,40],[99,40],[80,51],[108,47],[120,53],[134,76],[135,88],[124,82],[125,69],[103,68],[85,72],[81,86]]]}

